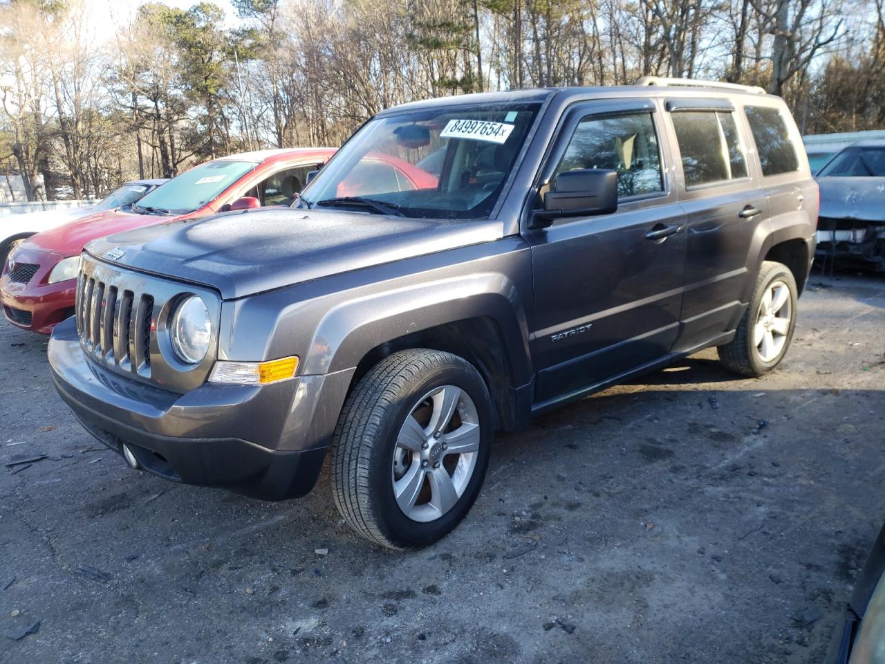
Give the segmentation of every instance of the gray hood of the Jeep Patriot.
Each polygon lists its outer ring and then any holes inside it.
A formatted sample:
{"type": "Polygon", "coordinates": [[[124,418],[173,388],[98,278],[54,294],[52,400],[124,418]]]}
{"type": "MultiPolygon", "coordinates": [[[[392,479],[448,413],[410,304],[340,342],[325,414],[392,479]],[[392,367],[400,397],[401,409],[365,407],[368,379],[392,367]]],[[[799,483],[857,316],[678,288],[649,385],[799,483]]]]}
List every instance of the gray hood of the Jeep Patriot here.
{"type": "Polygon", "coordinates": [[[173,221],[90,243],[97,259],[219,290],[226,299],[496,240],[497,221],[265,209],[173,221]]]}

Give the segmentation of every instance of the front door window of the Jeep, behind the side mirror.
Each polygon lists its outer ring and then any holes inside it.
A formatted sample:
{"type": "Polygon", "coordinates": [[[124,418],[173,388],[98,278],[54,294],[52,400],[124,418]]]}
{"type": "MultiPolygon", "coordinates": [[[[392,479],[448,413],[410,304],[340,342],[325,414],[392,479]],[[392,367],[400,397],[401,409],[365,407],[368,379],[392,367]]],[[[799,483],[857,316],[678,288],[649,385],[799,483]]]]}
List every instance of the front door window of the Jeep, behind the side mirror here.
{"type": "Polygon", "coordinates": [[[618,197],[664,189],[658,135],[650,112],[584,118],[575,128],[554,176],[576,168],[618,172],[618,197]]]}

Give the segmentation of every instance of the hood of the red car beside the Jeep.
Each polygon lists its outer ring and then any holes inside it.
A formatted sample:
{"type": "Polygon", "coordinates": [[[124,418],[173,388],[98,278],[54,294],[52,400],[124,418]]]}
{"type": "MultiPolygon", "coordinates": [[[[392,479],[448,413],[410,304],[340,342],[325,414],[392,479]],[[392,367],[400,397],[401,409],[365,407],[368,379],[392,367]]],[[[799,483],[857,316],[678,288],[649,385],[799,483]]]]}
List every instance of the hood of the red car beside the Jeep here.
{"type": "Polygon", "coordinates": [[[54,251],[65,257],[77,256],[83,251],[86,243],[95,240],[96,237],[114,235],[135,228],[154,226],[165,221],[172,221],[173,219],[178,219],[178,217],[108,210],[107,212],[90,214],[82,219],[63,224],[58,228],[43,231],[37,235],[31,235],[25,240],[25,243],[27,243],[29,249],[54,251]]]}

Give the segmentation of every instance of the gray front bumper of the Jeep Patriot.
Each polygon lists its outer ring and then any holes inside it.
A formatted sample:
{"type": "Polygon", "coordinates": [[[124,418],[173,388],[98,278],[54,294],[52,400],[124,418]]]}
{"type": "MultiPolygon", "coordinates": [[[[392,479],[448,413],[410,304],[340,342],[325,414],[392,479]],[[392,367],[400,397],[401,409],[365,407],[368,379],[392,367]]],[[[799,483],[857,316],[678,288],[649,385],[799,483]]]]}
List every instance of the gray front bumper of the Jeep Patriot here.
{"type": "Polygon", "coordinates": [[[128,444],[143,470],[265,500],[304,496],[316,483],[334,427],[320,428],[328,436],[312,422],[294,427],[315,407],[309,400],[324,376],[263,387],[206,383],[181,395],[97,366],[73,320],[53,330],[48,354],[56,389],[83,427],[120,454],[128,444]]]}

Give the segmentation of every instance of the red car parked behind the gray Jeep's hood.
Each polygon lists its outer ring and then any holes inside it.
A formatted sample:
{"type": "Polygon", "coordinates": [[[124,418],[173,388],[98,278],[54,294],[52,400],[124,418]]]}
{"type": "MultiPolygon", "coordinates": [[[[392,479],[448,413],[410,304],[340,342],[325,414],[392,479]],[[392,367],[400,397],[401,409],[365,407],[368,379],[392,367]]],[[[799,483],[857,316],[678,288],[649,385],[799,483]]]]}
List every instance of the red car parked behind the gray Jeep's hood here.
{"type": "Polygon", "coordinates": [[[334,153],[333,148],[299,148],[214,159],[194,166],[135,204],[31,235],[10,252],[3,266],[0,301],[6,320],[48,335],[73,315],[80,252],[90,240],[227,210],[289,205],[307,174],[334,153]]]}

